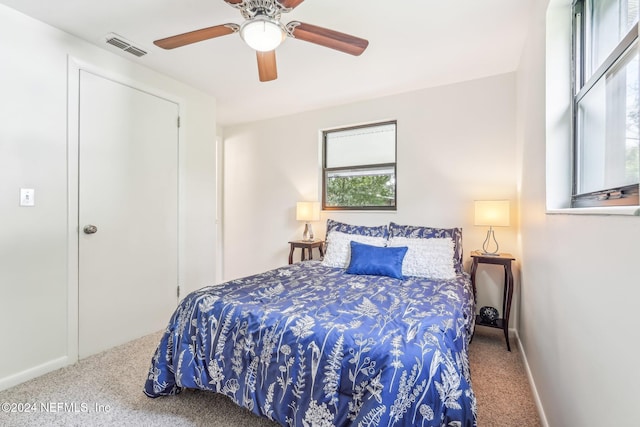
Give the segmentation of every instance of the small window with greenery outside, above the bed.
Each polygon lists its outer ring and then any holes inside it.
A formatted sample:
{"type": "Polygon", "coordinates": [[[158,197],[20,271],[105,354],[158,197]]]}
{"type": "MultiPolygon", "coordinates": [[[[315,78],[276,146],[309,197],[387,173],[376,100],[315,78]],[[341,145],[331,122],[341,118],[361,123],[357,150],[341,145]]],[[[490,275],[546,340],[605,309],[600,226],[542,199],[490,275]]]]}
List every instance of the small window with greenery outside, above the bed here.
{"type": "Polygon", "coordinates": [[[396,122],[322,132],[322,208],[396,210],[396,122]]]}

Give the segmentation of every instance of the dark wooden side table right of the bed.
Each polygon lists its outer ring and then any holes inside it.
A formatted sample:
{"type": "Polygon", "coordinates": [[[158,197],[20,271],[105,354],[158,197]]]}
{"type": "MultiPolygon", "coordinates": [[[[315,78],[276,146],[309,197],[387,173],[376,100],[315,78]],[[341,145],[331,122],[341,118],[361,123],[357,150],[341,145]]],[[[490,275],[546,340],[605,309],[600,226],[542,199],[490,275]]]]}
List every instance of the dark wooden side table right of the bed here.
{"type": "Polygon", "coordinates": [[[504,290],[502,293],[502,318],[497,319],[495,323],[483,322],[479,315],[476,315],[476,325],[489,326],[504,331],[504,338],[507,341],[507,350],[511,351],[509,344],[509,314],[511,313],[511,298],[513,297],[513,272],[511,271],[511,262],[515,258],[511,254],[500,253],[497,255],[484,255],[480,251],[471,252],[473,263],[471,264],[471,284],[473,286],[473,297],[476,298],[476,271],[478,264],[497,264],[504,267],[504,290]]]}

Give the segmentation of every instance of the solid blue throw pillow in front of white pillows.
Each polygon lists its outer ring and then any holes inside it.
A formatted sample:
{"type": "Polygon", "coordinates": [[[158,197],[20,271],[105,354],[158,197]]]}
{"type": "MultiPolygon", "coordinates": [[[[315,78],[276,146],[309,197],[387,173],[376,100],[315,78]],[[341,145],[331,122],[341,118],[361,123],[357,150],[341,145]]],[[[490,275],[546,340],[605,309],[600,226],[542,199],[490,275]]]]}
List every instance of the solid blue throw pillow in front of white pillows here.
{"type": "Polygon", "coordinates": [[[406,246],[387,248],[352,241],[347,273],[389,276],[402,280],[402,260],[406,253],[406,246]]]}

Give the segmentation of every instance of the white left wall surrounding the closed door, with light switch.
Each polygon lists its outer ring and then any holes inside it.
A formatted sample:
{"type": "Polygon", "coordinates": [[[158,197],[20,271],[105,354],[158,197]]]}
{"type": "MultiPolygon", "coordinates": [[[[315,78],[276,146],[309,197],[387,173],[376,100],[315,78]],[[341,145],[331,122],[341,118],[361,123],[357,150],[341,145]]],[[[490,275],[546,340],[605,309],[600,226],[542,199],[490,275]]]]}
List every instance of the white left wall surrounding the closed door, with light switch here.
{"type": "MultiPolygon", "coordinates": [[[[0,5],[0,389],[66,363],[67,58],[180,100],[185,291],[215,280],[215,99],[0,5]],[[18,206],[21,187],[36,206],[18,206]]],[[[114,307],[117,313],[117,307],[114,307]]],[[[168,319],[167,319],[168,320],[168,319]]],[[[162,329],[164,325],[159,325],[162,329]]]]}

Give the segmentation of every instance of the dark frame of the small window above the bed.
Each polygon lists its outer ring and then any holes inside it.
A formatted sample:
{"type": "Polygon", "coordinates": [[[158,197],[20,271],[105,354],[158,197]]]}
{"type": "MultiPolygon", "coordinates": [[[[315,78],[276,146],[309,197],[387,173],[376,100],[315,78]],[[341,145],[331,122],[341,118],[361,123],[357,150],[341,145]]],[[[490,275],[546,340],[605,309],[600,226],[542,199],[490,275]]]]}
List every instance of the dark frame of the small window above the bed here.
{"type": "Polygon", "coordinates": [[[387,120],[383,122],[367,123],[362,125],[347,126],[335,129],[328,129],[322,131],[322,210],[326,211],[397,211],[398,210],[398,121],[387,120]],[[357,166],[340,166],[340,167],[327,167],[327,136],[334,132],[342,132],[354,129],[364,129],[377,126],[394,125],[394,159],[392,163],[377,163],[377,164],[364,164],[357,166]],[[327,205],[327,174],[330,172],[336,172],[341,170],[354,170],[354,169],[373,169],[373,168],[389,168],[393,167],[394,176],[394,191],[393,191],[393,204],[384,206],[328,206],[327,205]]]}

